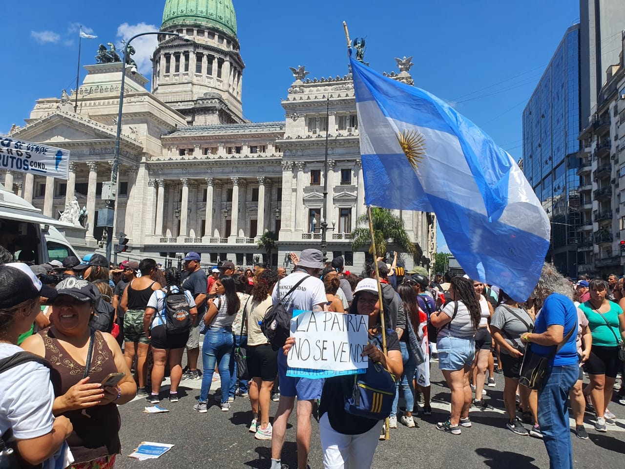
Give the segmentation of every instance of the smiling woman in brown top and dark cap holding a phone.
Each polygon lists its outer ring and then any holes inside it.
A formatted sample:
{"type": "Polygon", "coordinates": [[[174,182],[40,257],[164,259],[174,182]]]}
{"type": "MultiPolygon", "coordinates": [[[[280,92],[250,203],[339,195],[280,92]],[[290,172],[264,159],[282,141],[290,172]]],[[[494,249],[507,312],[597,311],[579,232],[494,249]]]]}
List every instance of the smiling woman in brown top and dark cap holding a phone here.
{"type": "Polygon", "coordinates": [[[132,400],[137,386],[113,336],[89,328],[96,288],[69,277],[59,283],[57,291],[53,325],[29,337],[22,348],[53,365],[51,376],[58,396],[53,413],[66,416],[74,426],[67,439],[76,461],[70,468],[110,468],[121,450],[116,404],[132,400]],[[118,385],[103,387],[109,373],[124,376],[118,385]]]}

